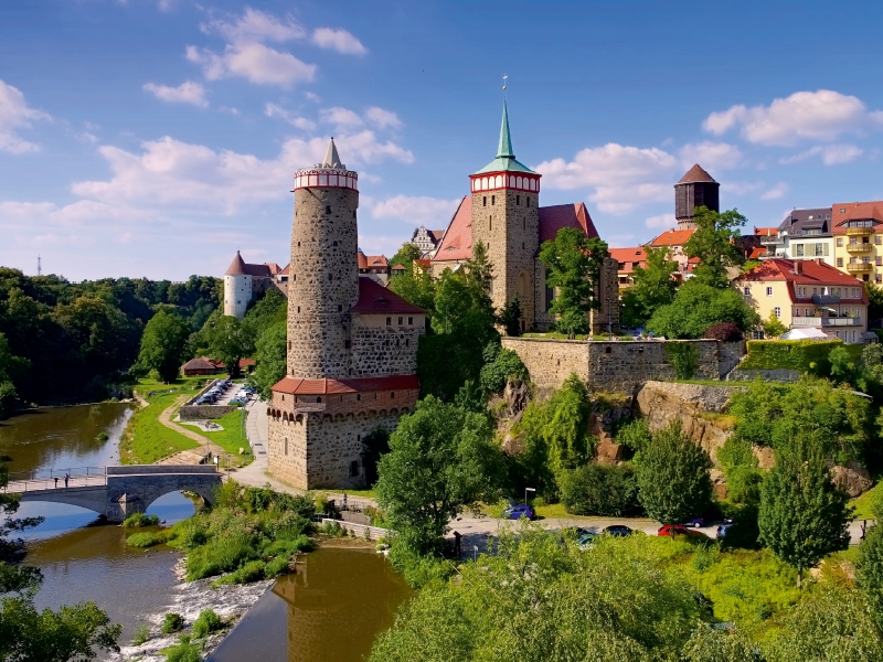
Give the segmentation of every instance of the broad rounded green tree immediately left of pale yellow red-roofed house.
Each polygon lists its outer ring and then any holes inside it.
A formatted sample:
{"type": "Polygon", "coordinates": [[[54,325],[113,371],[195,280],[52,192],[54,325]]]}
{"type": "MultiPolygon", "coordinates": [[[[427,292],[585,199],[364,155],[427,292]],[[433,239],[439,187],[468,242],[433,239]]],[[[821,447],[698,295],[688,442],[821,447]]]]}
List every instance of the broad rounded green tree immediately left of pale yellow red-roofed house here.
{"type": "Polygon", "coordinates": [[[733,322],[751,331],[760,318],[736,290],[717,289],[691,278],[674,301],[657,309],[647,328],[658,335],[675,339],[702,338],[713,324],[733,322]]]}

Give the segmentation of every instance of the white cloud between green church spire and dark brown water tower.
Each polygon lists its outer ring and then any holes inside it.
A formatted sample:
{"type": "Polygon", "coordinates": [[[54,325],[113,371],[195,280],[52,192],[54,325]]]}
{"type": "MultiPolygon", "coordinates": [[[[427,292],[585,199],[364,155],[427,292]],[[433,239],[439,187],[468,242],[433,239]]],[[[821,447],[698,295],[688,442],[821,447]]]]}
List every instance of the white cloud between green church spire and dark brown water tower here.
{"type": "Polygon", "coordinates": [[[656,147],[641,149],[610,142],[586,148],[573,161],[553,159],[536,166],[552,189],[594,189],[589,200],[598,210],[625,214],[646,202],[671,199],[679,161],[656,147]]]}

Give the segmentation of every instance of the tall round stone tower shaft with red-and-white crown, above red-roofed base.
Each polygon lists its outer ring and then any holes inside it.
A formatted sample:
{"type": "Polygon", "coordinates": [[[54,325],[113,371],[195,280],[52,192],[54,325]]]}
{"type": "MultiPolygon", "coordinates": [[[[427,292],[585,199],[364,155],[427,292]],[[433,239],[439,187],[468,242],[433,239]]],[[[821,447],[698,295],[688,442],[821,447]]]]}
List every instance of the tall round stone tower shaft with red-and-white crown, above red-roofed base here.
{"type": "Polygon", "coordinates": [[[359,299],[357,209],[358,174],[340,162],[332,138],[321,163],[295,173],[288,376],[350,375],[350,310],[359,299]]]}

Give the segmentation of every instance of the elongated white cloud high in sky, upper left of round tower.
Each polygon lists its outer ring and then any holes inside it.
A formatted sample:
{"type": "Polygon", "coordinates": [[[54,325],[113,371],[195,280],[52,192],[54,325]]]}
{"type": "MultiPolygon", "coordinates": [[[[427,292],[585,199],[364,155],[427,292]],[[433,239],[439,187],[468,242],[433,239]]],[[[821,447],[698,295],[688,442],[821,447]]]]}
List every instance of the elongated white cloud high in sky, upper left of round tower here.
{"type": "Polygon", "coordinates": [[[260,43],[227,44],[223,54],[209,49],[187,47],[187,58],[202,65],[210,81],[242,76],[252,83],[290,87],[312,81],[316,65],[301,62],[260,43]]]}

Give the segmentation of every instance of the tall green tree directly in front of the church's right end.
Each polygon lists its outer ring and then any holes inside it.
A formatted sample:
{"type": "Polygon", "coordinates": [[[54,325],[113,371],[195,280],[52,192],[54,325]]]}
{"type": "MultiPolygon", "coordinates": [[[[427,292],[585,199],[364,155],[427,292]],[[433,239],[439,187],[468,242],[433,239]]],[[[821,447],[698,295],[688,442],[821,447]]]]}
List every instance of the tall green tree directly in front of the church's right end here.
{"type": "Polygon", "coordinates": [[[540,247],[540,261],[549,269],[546,286],[557,290],[550,312],[558,316],[555,327],[562,333],[588,330],[588,311],[600,308],[598,282],[608,256],[607,244],[574,227],[562,227],[540,247]]]}

